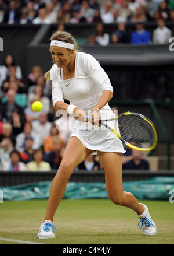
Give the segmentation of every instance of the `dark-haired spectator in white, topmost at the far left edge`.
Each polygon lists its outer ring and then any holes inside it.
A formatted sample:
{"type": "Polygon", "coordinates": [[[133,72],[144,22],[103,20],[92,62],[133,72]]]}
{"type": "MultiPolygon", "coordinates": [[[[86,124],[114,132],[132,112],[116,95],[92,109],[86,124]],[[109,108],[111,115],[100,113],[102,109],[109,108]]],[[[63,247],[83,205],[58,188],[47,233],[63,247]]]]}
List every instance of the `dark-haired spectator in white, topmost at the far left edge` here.
{"type": "Polygon", "coordinates": [[[10,67],[11,66],[16,66],[16,72],[15,72],[15,76],[17,79],[22,79],[22,72],[21,72],[21,68],[19,65],[16,65],[16,61],[13,57],[12,54],[8,54],[6,55],[4,61],[3,61],[3,65],[1,66],[1,81],[5,81],[9,75],[10,75],[10,67]]]}

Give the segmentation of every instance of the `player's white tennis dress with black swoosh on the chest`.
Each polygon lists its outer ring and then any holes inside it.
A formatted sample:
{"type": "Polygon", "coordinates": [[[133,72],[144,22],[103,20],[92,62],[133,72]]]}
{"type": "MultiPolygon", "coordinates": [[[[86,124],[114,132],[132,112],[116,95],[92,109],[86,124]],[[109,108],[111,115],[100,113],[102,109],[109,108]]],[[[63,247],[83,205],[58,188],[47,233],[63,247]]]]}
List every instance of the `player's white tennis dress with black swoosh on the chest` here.
{"type": "MultiPolygon", "coordinates": [[[[56,101],[67,99],[70,104],[74,104],[86,113],[91,114],[92,108],[99,102],[103,91],[110,90],[113,92],[113,87],[106,72],[90,54],[84,52],[76,54],[74,78],[63,80],[61,74],[63,74],[63,68],[61,68],[60,73],[57,65],[53,65],[50,78],[52,80],[54,105],[56,101]]],[[[100,109],[99,114],[102,119],[115,116],[108,103],[100,109]]],[[[107,122],[107,124],[114,128],[115,121],[107,122]]],[[[98,127],[74,118],[70,137],[72,136],[77,137],[86,148],[94,151],[125,153],[122,142],[113,132],[102,125],[98,127]]]]}

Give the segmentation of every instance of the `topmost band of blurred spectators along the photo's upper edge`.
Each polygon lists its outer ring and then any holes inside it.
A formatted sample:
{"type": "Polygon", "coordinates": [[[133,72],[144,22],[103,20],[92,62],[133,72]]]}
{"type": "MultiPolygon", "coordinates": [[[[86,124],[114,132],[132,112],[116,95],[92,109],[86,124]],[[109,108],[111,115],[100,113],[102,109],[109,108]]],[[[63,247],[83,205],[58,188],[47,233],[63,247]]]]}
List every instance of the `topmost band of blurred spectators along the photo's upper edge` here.
{"type": "Polygon", "coordinates": [[[0,23],[114,23],[173,20],[173,0],[1,0],[0,23]]]}

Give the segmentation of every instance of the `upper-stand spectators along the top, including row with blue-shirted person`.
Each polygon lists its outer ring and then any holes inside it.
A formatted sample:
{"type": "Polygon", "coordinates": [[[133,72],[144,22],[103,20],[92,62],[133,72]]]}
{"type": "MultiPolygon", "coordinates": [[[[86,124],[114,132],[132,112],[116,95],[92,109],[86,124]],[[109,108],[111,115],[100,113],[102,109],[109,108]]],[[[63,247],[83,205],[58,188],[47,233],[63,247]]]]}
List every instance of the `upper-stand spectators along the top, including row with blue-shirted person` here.
{"type": "Polygon", "coordinates": [[[89,45],[169,43],[172,30],[165,23],[173,20],[173,0],[0,0],[0,24],[98,23],[86,36],[89,45]],[[127,22],[136,24],[135,31],[127,31],[127,22]],[[157,29],[146,31],[146,22],[157,29]],[[111,34],[104,31],[108,23],[118,26],[111,34]]]}

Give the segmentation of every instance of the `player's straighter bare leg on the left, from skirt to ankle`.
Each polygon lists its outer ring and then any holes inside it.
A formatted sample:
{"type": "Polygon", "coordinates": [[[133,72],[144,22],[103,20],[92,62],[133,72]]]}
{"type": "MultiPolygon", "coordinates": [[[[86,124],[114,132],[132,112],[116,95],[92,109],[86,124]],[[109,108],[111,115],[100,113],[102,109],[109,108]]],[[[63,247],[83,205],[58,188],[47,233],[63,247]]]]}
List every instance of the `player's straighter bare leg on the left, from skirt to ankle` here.
{"type": "Polygon", "coordinates": [[[55,215],[56,209],[64,196],[67,182],[73,173],[73,170],[92,152],[92,150],[86,149],[78,138],[70,138],[70,141],[64,151],[60,167],[56,176],[53,178],[50,187],[48,205],[44,220],[53,221],[53,216],[55,215]]]}

